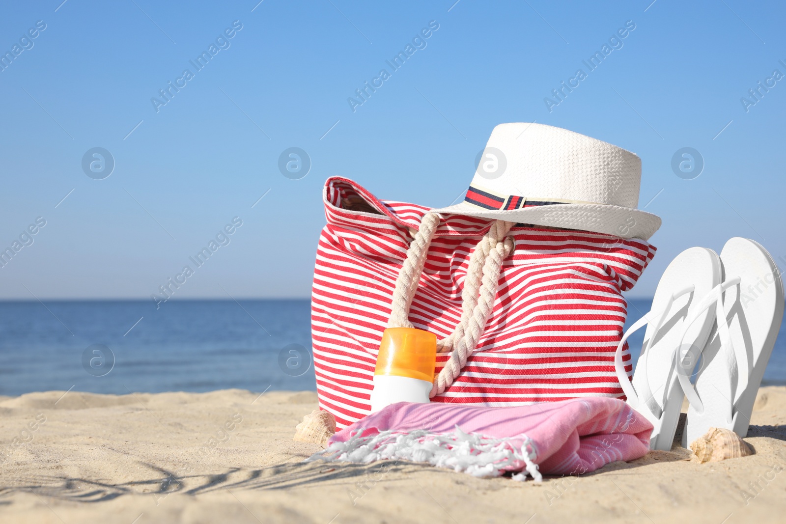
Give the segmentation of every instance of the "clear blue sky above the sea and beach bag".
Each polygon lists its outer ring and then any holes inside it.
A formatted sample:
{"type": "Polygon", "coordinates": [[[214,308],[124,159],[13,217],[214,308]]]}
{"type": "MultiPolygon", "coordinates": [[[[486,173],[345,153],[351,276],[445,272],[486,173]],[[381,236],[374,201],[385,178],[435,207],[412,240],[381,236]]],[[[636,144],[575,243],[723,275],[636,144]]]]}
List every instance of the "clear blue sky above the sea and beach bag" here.
{"type": "Polygon", "coordinates": [[[307,297],[325,178],[441,207],[504,122],[641,156],[639,206],[663,227],[631,295],[652,295],[679,251],[720,251],[730,236],[786,257],[786,79],[740,101],[786,74],[779,2],[257,1],[2,8],[0,51],[22,50],[0,71],[0,247],[46,225],[0,269],[0,299],[149,299],[233,217],[230,244],[176,296],[307,297]],[[38,20],[46,29],[24,39],[38,20]],[[196,71],[189,60],[234,20],[241,30],[196,71]],[[425,47],[353,112],[347,98],[431,20],[425,47]],[[628,20],[622,47],[549,112],[544,98],[628,20]],[[156,112],[151,98],[186,68],[193,78],[156,112]],[[103,180],[82,168],[95,147],[115,159],[103,180]],[[305,178],[278,170],[290,147],[310,156],[305,178]],[[698,178],[672,170],[683,147],[703,156],[698,178]]]}

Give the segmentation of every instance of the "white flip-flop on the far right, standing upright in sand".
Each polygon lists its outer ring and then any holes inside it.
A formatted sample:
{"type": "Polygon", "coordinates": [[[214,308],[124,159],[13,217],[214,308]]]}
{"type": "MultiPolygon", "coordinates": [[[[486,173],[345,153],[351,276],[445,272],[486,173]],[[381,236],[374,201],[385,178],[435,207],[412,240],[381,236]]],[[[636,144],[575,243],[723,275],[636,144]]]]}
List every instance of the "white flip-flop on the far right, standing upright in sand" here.
{"type": "Polygon", "coordinates": [[[735,236],[721,251],[723,281],[702,300],[716,318],[701,352],[695,385],[679,380],[690,402],[682,445],[710,427],[747,436],[758,387],[784,315],[784,288],[773,258],[757,242],[735,236]]]}

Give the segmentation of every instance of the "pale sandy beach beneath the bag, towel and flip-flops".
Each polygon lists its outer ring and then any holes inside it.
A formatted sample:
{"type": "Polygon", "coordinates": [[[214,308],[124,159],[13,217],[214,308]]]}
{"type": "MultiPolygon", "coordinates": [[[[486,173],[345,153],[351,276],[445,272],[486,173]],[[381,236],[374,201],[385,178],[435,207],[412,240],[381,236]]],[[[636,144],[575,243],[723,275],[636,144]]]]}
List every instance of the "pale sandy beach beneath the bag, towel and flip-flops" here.
{"type": "Polygon", "coordinates": [[[2,522],[783,522],[786,387],[759,390],[754,456],[675,446],[581,478],[480,479],[419,464],[303,464],[309,391],[0,398],[2,522]]]}

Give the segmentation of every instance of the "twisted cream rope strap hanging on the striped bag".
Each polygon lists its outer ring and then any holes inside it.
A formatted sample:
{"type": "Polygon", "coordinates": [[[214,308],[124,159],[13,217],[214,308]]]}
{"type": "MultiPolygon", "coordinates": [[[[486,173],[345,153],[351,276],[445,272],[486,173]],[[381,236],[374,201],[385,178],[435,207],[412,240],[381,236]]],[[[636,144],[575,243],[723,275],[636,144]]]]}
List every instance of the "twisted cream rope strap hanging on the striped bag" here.
{"type": "MultiPolygon", "coordinates": [[[[438,225],[438,214],[427,213],[421,220],[420,229],[406,251],[406,258],[395,282],[388,328],[413,327],[409,319],[410,306],[438,225]]],[[[435,376],[429,397],[443,393],[454,383],[468,357],[475,351],[480,335],[483,335],[483,328],[494,307],[502,262],[513,251],[513,239],[506,236],[513,225],[514,222],[494,221],[470,255],[467,277],[461,291],[461,321],[453,333],[437,341],[439,353],[453,353],[439,375],[435,376]]]]}

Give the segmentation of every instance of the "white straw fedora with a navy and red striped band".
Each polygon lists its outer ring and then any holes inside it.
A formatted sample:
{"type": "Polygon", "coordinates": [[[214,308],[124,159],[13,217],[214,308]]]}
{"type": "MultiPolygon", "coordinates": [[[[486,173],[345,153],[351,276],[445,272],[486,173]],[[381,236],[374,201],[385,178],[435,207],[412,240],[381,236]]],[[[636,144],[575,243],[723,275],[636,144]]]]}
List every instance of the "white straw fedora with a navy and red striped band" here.
{"type": "Polygon", "coordinates": [[[640,211],[641,159],[539,123],[491,132],[465,200],[432,210],[648,240],[660,218],[640,211]]]}

